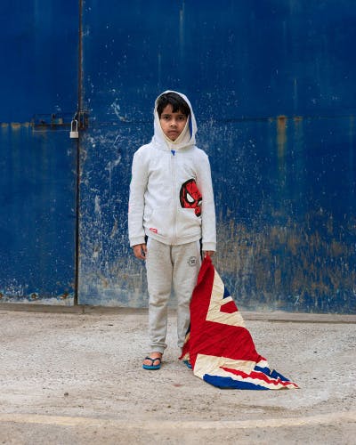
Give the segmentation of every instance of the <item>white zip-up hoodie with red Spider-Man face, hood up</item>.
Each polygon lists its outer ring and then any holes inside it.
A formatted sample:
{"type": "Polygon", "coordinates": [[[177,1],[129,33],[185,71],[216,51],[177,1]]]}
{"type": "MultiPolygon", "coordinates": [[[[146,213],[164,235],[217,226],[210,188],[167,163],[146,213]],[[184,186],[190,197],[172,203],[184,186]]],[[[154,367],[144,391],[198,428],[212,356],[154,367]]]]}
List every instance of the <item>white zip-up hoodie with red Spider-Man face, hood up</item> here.
{"type": "Polygon", "coordinates": [[[166,137],[156,101],[152,141],[134,153],[128,212],[130,246],[143,244],[145,236],[171,246],[202,239],[203,250],[214,251],[215,211],[209,160],[195,145],[197,124],[190,101],[184,94],[177,94],[190,107],[182,134],[174,142],[166,137]]]}

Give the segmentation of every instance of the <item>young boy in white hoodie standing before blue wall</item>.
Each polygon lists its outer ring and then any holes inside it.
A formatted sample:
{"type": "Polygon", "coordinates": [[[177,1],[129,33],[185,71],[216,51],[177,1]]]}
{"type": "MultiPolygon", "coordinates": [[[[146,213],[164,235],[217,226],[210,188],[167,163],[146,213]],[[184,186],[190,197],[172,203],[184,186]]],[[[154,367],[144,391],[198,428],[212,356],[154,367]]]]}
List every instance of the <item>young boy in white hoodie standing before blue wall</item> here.
{"type": "Polygon", "coordinates": [[[201,247],[204,255],[213,255],[216,247],[210,165],[195,145],[196,132],[190,101],[182,93],[166,91],[155,103],[152,141],[134,153],[128,231],[134,255],[146,261],[150,295],[150,354],[143,360],[144,369],[160,368],[172,288],[182,348],[201,247]]]}

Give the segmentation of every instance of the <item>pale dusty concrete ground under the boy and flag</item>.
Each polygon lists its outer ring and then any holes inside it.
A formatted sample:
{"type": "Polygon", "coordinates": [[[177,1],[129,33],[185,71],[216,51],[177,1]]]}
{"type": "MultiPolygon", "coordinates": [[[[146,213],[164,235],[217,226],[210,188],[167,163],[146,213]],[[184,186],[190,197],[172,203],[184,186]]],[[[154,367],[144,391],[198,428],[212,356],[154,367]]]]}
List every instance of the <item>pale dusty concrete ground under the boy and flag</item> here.
{"type": "Polygon", "coordinates": [[[0,304],[0,444],[353,444],[356,316],[242,312],[300,386],[220,390],[177,360],[142,369],[145,310],[0,304]]]}

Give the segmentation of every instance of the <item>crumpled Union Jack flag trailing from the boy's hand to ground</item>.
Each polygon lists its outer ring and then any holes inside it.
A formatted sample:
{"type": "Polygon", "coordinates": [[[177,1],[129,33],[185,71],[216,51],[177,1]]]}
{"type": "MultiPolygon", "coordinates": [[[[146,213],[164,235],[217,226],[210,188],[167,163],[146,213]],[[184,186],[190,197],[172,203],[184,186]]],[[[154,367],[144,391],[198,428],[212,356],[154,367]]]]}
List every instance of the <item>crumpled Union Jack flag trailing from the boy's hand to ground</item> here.
{"type": "Polygon", "coordinates": [[[298,388],[269,368],[237,305],[209,256],[201,265],[190,302],[190,329],[181,360],[190,360],[195,376],[219,388],[270,390],[298,388]]]}

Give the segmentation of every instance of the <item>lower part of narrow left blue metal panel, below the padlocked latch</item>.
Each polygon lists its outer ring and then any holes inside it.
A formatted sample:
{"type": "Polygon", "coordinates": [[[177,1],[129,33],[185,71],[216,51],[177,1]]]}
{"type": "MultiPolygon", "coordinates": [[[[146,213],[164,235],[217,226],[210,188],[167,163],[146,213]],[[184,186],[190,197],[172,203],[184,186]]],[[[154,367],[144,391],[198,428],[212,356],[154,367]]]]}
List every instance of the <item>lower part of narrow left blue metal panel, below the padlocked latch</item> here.
{"type": "Polygon", "coordinates": [[[0,134],[1,301],[73,302],[76,148],[67,130],[0,134]]]}

